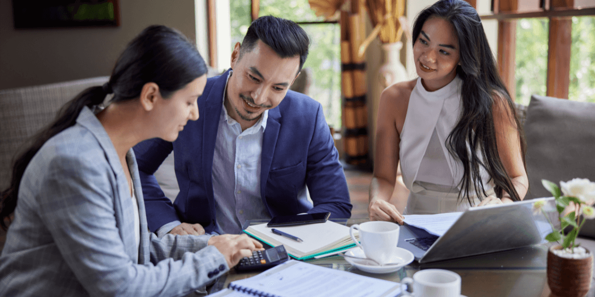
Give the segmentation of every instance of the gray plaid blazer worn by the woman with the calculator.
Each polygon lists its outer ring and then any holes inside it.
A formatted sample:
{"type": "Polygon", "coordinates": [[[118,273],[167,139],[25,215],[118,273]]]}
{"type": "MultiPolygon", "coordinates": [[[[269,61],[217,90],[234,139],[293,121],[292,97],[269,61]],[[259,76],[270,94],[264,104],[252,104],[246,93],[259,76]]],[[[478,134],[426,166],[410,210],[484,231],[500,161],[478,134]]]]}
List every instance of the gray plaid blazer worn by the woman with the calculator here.
{"type": "Polygon", "coordinates": [[[0,257],[0,296],[183,296],[229,268],[210,235],[149,233],[136,158],[127,154],[140,217],[107,132],[89,108],[48,140],[21,179],[0,257]]]}

